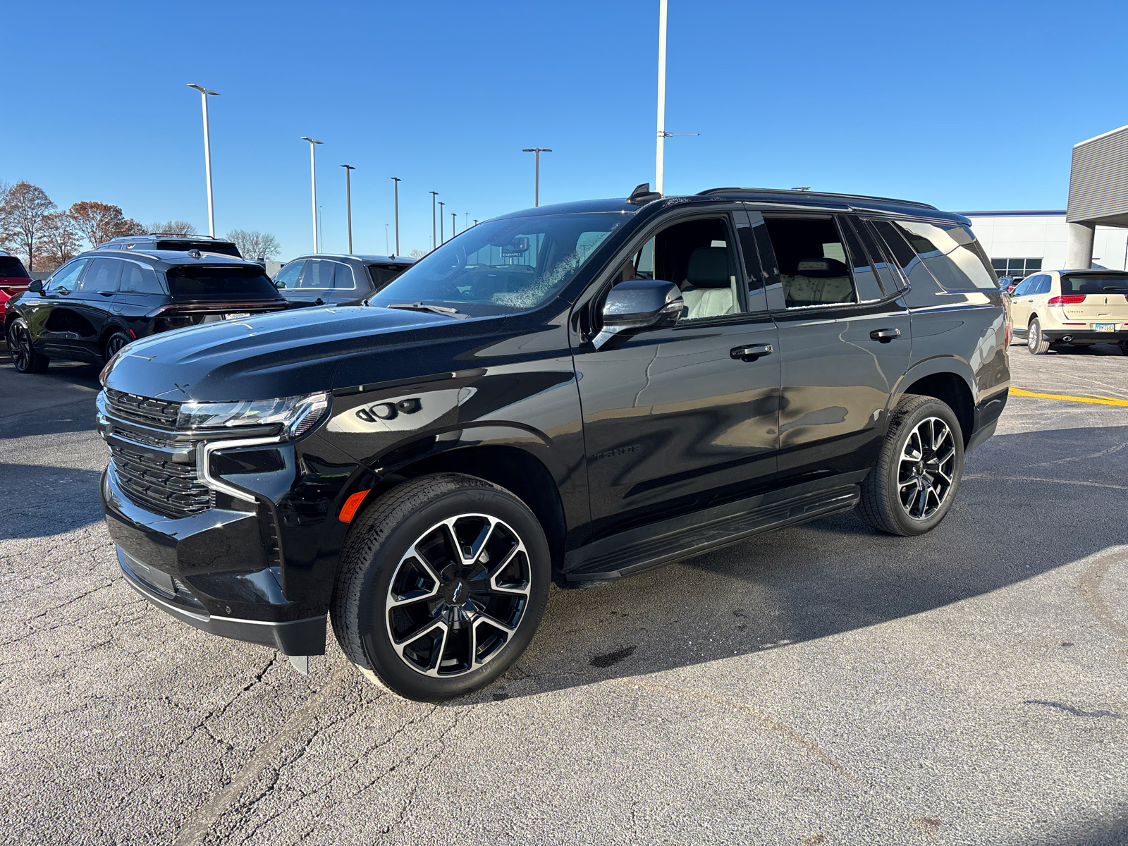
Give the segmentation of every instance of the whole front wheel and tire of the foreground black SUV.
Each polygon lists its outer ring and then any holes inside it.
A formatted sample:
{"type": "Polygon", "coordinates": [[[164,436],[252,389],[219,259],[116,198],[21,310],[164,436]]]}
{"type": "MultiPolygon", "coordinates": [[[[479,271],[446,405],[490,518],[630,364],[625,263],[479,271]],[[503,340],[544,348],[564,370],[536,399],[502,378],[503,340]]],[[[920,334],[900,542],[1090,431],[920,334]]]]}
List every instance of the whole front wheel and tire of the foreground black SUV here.
{"type": "Polygon", "coordinates": [[[521,500],[475,476],[423,476],[350,530],[333,631],[395,693],[447,699],[488,685],[525,652],[550,581],[548,541],[521,500]]]}

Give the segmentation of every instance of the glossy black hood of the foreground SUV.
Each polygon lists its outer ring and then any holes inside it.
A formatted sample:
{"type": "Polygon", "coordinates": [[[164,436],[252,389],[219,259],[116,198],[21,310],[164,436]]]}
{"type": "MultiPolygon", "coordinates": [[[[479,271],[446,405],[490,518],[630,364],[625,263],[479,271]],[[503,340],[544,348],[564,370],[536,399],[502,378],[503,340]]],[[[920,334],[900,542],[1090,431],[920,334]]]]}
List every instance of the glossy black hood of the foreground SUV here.
{"type": "Polygon", "coordinates": [[[364,381],[429,373],[418,370],[417,347],[433,347],[452,335],[473,333],[481,340],[483,319],[452,320],[424,311],[352,306],[222,320],[129,344],[111,362],[105,385],[173,402],[312,394],[341,387],[334,377],[343,360],[370,359],[374,352],[380,355],[371,362],[373,372],[365,372],[364,381]],[[467,327],[467,333],[466,324],[475,326],[467,327]],[[409,371],[389,373],[386,362],[393,371],[409,371]]]}

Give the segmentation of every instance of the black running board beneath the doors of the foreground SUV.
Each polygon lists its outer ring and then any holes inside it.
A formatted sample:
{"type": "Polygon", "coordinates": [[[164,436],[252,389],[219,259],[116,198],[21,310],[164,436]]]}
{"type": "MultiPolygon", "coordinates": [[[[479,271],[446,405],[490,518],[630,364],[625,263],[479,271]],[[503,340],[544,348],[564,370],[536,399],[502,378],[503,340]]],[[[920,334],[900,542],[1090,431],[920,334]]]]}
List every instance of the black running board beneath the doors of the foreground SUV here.
{"type": "Polygon", "coordinates": [[[764,496],[754,496],[658,526],[632,529],[570,553],[565,579],[588,582],[634,575],[765,531],[849,511],[861,496],[857,485],[817,491],[770,504],[764,504],[764,496]]]}

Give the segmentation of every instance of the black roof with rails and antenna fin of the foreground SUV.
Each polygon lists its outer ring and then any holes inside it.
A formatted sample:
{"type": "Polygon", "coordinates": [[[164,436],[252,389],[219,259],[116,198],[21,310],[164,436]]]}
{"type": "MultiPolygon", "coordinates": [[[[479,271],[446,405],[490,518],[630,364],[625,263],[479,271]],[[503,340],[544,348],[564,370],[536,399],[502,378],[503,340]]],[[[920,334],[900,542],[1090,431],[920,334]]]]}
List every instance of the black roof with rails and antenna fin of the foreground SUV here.
{"type": "Polygon", "coordinates": [[[697,194],[680,196],[659,196],[649,202],[635,205],[627,202],[625,197],[609,200],[583,200],[573,203],[556,203],[554,205],[540,205],[534,209],[503,214],[496,220],[505,218],[522,218],[538,214],[578,214],[593,212],[620,212],[633,214],[641,209],[660,209],[686,203],[708,203],[723,201],[739,201],[746,203],[773,203],[788,206],[841,206],[844,209],[857,209],[893,214],[904,214],[915,218],[932,218],[950,220],[971,226],[971,221],[962,214],[941,211],[934,205],[918,203],[911,200],[895,200],[892,197],[869,196],[865,194],[831,194],[818,191],[787,191],[784,188],[708,188],[697,194]]]}

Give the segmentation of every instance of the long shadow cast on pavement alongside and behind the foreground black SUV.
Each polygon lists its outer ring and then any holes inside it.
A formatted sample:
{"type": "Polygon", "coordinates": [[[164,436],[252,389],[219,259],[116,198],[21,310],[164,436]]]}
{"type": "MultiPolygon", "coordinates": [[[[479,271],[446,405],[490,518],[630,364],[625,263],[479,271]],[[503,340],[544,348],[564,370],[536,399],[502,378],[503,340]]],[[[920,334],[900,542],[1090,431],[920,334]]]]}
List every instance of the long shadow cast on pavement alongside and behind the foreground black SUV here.
{"type": "Polygon", "coordinates": [[[1123,544],[1126,441],[1128,426],[996,435],[969,455],[952,511],[922,537],[838,514],[620,582],[554,590],[529,652],[494,689],[536,677],[543,693],[835,635],[1123,544]]]}

